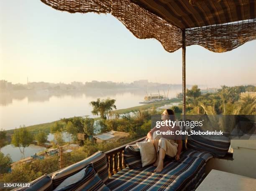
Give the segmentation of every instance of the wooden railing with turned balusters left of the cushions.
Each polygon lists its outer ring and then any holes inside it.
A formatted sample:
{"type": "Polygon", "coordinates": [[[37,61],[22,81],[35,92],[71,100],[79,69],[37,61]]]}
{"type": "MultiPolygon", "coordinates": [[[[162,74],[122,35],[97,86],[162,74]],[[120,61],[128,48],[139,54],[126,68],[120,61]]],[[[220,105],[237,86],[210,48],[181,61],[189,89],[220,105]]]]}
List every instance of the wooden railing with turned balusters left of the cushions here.
{"type": "Polygon", "coordinates": [[[139,138],[133,142],[127,143],[117,148],[113,148],[110,151],[105,152],[108,158],[108,176],[112,176],[118,171],[126,167],[124,161],[124,149],[127,145],[133,145],[137,142],[143,141],[146,137],[139,138]]]}

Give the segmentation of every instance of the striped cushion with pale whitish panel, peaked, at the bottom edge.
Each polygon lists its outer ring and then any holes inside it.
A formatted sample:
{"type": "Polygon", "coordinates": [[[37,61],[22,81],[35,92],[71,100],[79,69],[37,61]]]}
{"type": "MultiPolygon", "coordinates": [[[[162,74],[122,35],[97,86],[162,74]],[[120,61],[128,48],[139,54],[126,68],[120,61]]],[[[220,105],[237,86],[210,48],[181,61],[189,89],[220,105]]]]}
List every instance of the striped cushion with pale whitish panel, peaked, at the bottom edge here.
{"type": "Polygon", "coordinates": [[[78,173],[69,176],[54,191],[109,191],[110,189],[102,182],[95,173],[93,165],[89,164],[78,173]]]}

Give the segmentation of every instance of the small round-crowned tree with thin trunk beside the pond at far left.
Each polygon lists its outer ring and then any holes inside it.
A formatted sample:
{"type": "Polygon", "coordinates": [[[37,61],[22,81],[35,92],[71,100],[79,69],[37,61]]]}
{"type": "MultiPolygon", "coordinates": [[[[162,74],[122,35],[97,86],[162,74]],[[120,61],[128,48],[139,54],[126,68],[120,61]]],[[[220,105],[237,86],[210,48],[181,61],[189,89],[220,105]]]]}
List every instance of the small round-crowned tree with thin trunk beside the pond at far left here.
{"type": "Polygon", "coordinates": [[[20,126],[20,128],[14,130],[11,143],[13,146],[18,147],[23,157],[25,157],[24,150],[33,143],[33,134],[25,126],[20,126]],[[21,150],[21,147],[23,147],[23,150],[21,150]]]}

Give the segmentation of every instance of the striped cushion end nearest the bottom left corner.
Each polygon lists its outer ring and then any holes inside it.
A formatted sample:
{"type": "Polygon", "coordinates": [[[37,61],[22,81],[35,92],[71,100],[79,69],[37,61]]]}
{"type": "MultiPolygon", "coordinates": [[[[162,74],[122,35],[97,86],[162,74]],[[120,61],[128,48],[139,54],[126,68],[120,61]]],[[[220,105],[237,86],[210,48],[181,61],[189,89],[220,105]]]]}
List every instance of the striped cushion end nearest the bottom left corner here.
{"type": "Polygon", "coordinates": [[[52,180],[48,175],[43,175],[30,182],[30,187],[22,187],[18,189],[13,189],[15,191],[51,191],[52,190],[52,180]]]}

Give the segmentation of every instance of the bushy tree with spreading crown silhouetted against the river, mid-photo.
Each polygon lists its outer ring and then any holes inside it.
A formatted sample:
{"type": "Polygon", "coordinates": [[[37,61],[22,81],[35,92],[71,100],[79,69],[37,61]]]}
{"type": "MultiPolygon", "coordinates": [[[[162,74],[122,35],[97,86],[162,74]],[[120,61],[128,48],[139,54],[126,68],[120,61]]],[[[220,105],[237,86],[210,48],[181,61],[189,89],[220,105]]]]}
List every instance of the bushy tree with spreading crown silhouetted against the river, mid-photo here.
{"type": "Polygon", "coordinates": [[[110,98],[106,100],[100,100],[100,98],[98,98],[97,101],[91,101],[90,105],[93,108],[92,114],[100,114],[102,119],[106,119],[107,117],[109,119],[110,112],[113,111],[113,108],[116,109],[115,100],[110,98]]]}

